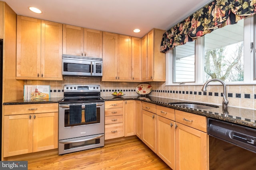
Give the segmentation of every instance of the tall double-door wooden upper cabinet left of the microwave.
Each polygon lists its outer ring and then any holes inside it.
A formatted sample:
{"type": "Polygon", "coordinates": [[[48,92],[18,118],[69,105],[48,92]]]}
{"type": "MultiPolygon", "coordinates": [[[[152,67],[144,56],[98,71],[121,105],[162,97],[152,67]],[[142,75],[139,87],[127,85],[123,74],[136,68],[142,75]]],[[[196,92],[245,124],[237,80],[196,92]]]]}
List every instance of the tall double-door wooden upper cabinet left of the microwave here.
{"type": "Polygon", "coordinates": [[[62,24],[17,16],[16,79],[62,80],[62,24]]]}

